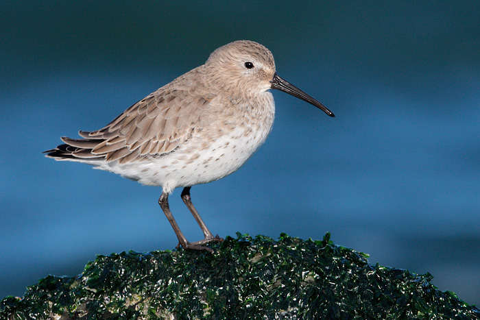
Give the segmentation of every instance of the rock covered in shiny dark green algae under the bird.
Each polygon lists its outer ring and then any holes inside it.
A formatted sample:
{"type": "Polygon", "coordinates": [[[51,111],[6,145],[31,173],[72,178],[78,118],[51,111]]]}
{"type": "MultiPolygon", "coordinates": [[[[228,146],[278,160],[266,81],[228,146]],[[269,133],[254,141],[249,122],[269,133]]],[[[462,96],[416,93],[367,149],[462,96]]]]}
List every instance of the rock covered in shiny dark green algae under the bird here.
{"type": "Polygon", "coordinates": [[[49,275],[0,319],[480,319],[431,275],[286,234],[237,234],[207,251],[98,256],[77,278],[49,275]]]}

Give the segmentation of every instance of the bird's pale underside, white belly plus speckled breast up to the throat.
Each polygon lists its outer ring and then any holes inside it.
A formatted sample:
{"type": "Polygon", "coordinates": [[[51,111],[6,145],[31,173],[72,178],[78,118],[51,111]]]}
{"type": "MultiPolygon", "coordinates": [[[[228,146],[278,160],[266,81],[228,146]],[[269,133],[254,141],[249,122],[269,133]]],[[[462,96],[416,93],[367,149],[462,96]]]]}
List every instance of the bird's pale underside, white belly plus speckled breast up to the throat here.
{"type": "MultiPolygon", "coordinates": [[[[162,186],[163,192],[219,180],[237,171],[272,130],[275,107],[271,93],[248,112],[214,113],[200,129],[170,153],[139,162],[102,162],[98,169],[111,171],[149,186],[162,186]],[[262,106],[262,108],[259,108],[262,106]]],[[[241,108],[247,110],[249,105],[241,108]]],[[[227,110],[228,111],[228,110],[227,110]]]]}

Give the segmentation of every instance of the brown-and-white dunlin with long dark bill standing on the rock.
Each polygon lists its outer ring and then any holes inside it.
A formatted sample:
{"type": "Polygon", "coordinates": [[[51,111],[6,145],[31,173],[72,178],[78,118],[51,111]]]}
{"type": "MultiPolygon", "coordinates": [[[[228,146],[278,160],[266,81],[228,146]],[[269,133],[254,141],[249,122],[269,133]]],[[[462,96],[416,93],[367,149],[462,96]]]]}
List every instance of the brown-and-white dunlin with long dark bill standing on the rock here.
{"type": "Polygon", "coordinates": [[[190,198],[190,188],[237,171],[267,138],[274,123],[269,89],[298,97],[334,116],[322,103],[276,74],[272,53],[241,40],[211,53],[204,65],[181,75],[125,110],[106,127],[80,131],[80,139],[47,157],[91,164],[149,186],[162,186],[158,199],[185,249],[208,250],[221,241],[208,230],[190,198]],[[169,209],[168,196],[183,187],[182,199],[204,239],[189,242],[169,209]]]}

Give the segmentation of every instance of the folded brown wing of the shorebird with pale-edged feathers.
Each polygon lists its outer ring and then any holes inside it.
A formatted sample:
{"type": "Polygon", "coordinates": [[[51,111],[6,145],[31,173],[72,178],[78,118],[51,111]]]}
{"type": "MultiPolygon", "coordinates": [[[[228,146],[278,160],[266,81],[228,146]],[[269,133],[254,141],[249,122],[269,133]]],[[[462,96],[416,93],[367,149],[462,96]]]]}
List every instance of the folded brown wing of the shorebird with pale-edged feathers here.
{"type": "Polygon", "coordinates": [[[101,130],[81,131],[84,139],[63,137],[75,147],[70,157],[128,163],[179,147],[214,97],[186,75],[135,103],[101,130]]]}

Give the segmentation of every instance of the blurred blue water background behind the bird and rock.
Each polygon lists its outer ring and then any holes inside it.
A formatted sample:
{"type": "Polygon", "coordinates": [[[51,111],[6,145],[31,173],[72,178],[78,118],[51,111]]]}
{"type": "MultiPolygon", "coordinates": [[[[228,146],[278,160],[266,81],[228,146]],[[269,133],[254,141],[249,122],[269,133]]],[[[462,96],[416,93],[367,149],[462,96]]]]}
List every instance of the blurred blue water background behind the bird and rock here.
{"type": "Polygon", "coordinates": [[[265,145],[191,190],[212,232],[329,231],[480,304],[479,21],[479,1],[1,2],[0,298],[95,254],[176,246],[160,188],[41,152],[248,39],[336,118],[275,91],[265,145]]]}

